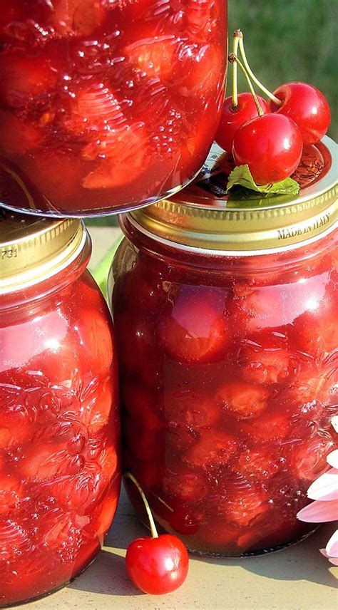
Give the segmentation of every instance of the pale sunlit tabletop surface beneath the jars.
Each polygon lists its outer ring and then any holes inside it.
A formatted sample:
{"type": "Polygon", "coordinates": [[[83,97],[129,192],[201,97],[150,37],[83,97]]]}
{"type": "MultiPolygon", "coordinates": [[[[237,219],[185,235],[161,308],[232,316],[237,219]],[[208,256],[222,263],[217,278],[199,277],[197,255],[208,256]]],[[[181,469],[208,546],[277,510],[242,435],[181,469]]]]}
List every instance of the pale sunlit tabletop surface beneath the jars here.
{"type": "MultiPolygon", "coordinates": [[[[119,229],[91,228],[94,269],[119,229]]],[[[335,529],[326,524],[301,544],[247,559],[190,557],[190,573],[178,591],[165,596],[140,593],[128,579],[124,556],[136,537],[148,535],[122,492],[118,512],[95,562],[73,583],[26,606],[32,610],[335,610],[338,567],[324,559],[335,529]]]]}

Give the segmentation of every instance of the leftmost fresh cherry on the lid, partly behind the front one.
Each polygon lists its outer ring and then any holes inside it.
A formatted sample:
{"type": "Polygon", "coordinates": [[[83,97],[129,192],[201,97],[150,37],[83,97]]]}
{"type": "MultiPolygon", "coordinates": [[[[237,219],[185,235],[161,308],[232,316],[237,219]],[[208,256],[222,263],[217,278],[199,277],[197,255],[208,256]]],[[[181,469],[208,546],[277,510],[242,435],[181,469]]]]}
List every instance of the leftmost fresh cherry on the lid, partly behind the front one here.
{"type": "MultiPolygon", "coordinates": [[[[258,101],[264,113],[271,113],[270,107],[260,95],[257,95],[258,101]]],[[[257,117],[257,105],[252,93],[245,92],[238,95],[238,103],[233,105],[232,96],[225,98],[222,115],[220,118],[220,126],[217,130],[215,140],[228,153],[232,151],[232,143],[235,133],[243,123],[247,120],[257,117]]]]}

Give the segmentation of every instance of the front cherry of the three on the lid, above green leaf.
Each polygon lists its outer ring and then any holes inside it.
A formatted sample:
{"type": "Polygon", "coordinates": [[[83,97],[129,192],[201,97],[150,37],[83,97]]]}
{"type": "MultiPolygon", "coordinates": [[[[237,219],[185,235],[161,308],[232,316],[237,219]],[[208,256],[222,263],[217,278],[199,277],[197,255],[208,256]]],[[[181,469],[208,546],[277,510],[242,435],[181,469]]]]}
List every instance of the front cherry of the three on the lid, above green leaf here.
{"type": "Polygon", "coordinates": [[[257,185],[280,182],[295,171],[302,156],[302,134],[282,114],[252,118],[235,133],[232,155],[236,165],[248,165],[257,185]]]}

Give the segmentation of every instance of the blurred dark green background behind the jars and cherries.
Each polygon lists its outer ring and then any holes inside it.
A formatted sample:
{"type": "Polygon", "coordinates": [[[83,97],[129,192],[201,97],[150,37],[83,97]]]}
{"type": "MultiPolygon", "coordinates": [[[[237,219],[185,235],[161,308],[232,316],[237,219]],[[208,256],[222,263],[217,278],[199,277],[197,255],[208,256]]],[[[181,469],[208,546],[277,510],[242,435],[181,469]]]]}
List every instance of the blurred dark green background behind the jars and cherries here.
{"type": "MultiPolygon", "coordinates": [[[[228,0],[229,43],[240,28],[252,71],[273,91],[287,81],[311,83],[332,109],[329,135],[338,140],[337,0],[228,0]]],[[[231,68],[227,91],[231,91],[231,68]]],[[[240,91],[247,83],[240,76],[240,91]]],[[[87,224],[116,226],[114,216],[87,224]]]]}

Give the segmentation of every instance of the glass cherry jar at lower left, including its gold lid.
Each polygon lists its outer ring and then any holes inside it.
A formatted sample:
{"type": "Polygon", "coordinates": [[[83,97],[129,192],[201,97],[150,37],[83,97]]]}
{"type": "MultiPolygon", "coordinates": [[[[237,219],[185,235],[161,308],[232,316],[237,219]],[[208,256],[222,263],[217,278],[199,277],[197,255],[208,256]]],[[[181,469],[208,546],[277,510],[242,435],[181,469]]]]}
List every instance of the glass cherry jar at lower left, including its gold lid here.
{"type": "Polygon", "coordinates": [[[113,327],[78,220],[0,216],[0,606],[90,564],[120,492],[113,327]]]}

